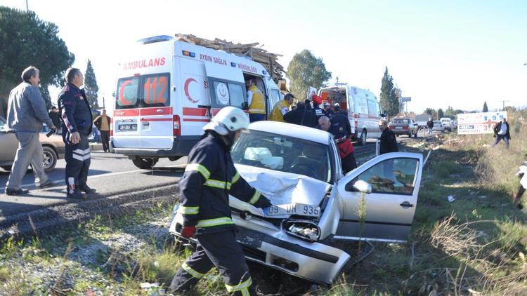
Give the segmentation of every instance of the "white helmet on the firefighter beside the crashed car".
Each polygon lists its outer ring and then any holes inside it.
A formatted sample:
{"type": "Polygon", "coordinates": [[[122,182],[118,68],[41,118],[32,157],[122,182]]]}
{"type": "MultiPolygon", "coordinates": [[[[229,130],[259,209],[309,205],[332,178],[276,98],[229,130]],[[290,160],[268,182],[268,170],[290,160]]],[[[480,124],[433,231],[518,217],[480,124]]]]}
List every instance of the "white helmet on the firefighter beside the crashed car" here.
{"type": "Polygon", "coordinates": [[[212,121],[203,126],[203,130],[214,130],[220,135],[228,135],[237,130],[247,130],[249,118],[240,108],[228,106],[221,109],[212,121]]]}

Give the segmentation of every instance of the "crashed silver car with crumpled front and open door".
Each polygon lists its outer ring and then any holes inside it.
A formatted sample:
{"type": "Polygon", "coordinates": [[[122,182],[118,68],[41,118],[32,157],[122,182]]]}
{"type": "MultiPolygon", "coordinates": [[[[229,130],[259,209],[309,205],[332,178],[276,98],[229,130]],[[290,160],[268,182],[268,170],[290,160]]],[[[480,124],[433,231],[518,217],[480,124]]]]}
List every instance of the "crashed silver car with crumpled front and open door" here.
{"type": "MultiPolygon", "coordinates": [[[[238,173],[273,206],[230,196],[238,242],[248,260],[318,283],[333,283],[351,255],[334,241],[405,242],[421,182],[422,154],[383,154],[343,175],[330,133],[274,121],[249,125],[233,146],[238,173]],[[365,221],[358,207],[365,199],[365,221]]],[[[169,231],[181,236],[176,213],[169,231]]]]}

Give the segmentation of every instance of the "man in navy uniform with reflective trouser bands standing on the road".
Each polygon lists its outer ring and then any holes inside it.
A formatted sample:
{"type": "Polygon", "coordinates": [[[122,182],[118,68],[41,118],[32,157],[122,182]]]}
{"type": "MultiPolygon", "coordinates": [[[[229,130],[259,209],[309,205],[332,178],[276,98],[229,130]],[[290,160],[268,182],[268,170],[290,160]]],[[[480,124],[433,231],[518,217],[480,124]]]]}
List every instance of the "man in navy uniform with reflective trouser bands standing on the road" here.
{"type": "Polygon", "coordinates": [[[93,118],[84,89],[80,89],[84,84],[82,72],[77,68],[68,68],[66,81],[66,86],[58,95],[60,116],[63,119],[63,141],[66,146],[66,190],[68,198],[82,199],[82,192],[96,192],[86,184],[91,158],[88,135],[91,133],[93,118]]]}

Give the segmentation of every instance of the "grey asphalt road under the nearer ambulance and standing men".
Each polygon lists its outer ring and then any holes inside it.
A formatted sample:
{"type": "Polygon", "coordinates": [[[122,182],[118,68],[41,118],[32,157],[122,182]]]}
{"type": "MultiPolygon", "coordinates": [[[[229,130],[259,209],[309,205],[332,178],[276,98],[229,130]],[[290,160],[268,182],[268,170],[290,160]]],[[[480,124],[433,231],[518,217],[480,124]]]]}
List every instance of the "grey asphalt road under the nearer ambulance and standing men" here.
{"type": "MultiPolygon", "coordinates": [[[[419,137],[423,135],[420,131],[419,137]]],[[[401,136],[397,139],[398,142],[409,140],[407,136],[401,136]]],[[[375,153],[375,140],[368,140],[365,146],[358,146],[357,144],[355,146],[360,163],[363,163],[365,159],[370,159],[375,153]]],[[[183,175],[186,160],[186,157],[178,161],[161,159],[154,169],[141,170],[136,168],[126,156],[92,151],[88,184],[98,191],[98,196],[93,196],[94,198],[176,184],[183,175]]],[[[7,196],[4,194],[4,189],[9,172],[0,168],[0,223],[4,217],[9,215],[74,202],[66,199],[64,173],[65,161],[60,159],[56,168],[48,173],[48,177],[59,182],[59,186],[49,189],[36,189],[32,171],[28,170],[22,180],[22,187],[30,189],[30,194],[27,196],[7,196]]],[[[152,194],[154,192],[152,190],[152,194]]]]}

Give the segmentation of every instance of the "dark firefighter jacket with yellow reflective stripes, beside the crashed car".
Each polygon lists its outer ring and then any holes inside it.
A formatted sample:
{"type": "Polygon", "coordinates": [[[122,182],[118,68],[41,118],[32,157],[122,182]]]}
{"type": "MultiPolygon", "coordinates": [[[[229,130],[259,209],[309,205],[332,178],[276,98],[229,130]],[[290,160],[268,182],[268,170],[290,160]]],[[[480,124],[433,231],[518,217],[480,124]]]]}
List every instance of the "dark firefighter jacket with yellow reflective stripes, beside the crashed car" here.
{"type": "Polygon", "coordinates": [[[229,194],[258,208],[271,203],[236,171],[230,150],[214,133],[190,150],[185,173],[179,182],[183,225],[194,225],[197,234],[233,229],[229,194]]]}

